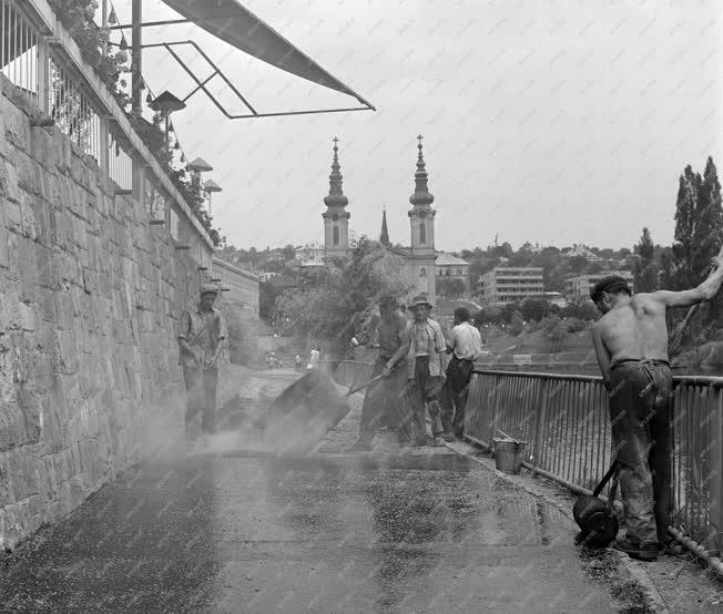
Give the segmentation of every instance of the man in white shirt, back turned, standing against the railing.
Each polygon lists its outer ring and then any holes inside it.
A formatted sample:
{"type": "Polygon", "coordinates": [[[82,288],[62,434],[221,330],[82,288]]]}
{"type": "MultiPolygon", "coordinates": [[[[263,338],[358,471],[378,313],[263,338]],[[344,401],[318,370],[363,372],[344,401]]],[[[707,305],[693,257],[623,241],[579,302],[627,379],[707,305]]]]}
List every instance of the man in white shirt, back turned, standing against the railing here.
{"type": "Polygon", "coordinates": [[[469,310],[466,307],[455,309],[455,327],[450,337],[447,341],[447,354],[451,355],[451,360],[447,366],[447,380],[440,399],[445,441],[454,441],[455,437],[461,439],[465,434],[469,381],[475,360],[482,351],[482,338],[479,330],[469,324],[469,310]]]}

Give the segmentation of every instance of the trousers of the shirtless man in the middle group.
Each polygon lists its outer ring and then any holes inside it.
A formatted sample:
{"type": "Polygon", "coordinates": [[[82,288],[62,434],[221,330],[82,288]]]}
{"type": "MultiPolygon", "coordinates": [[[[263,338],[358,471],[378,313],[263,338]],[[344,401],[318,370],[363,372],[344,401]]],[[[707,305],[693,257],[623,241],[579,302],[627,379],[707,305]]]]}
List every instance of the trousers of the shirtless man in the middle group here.
{"type": "MultiPolygon", "coordinates": [[[[374,364],[370,379],[381,375],[389,357],[380,356],[374,364]]],[[[405,422],[401,396],[407,381],[407,365],[401,361],[387,378],[373,383],[364,397],[362,422],[359,424],[359,443],[370,444],[379,427],[399,428],[405,422]]],[[[401,431],[397,433],[400,441],[406,439],[401,431]]]]}

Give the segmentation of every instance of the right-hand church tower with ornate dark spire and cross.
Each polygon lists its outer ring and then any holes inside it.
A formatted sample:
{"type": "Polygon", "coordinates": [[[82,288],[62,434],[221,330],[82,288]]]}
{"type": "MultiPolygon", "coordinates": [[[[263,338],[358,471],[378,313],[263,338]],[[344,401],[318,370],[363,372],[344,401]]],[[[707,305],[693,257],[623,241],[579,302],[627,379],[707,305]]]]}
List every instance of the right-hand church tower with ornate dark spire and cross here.
{"type": "Polygon", "coordinates": [[[415,192],[409,196],[409,227],[411,231],[411,283],[418,293],[425,293],[434,304],[436,298],[436,267],[437,253],[435,252],[435,216],[437,212],[431,208],[434,195],[427,185],[428,175],[422,155],[421,134],[417,136],[419,150],[417,154],[417,172],[415,173],[415,192]]]}

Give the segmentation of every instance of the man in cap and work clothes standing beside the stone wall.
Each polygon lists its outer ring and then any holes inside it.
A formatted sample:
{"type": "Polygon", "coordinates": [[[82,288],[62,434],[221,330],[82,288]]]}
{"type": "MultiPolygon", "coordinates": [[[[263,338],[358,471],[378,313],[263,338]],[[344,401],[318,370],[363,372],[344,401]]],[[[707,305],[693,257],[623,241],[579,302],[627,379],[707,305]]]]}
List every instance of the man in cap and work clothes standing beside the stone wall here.
{"type": "Polygon", "coordinates": [[[217,295],[215,286],[201,286],[196,309],[183,311],[179,323],[179,365],[186,388],[186,436],[196,413],[202,415],[203,433],[216,430],[218,358],[227,337],[224,317],[213,306],[217,295]]]}

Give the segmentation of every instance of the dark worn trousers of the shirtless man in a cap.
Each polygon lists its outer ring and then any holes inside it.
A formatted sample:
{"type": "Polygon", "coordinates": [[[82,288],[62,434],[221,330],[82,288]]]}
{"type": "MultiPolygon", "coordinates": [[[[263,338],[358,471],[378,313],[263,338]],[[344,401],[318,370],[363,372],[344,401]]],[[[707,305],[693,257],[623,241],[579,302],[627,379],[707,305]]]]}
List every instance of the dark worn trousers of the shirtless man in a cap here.
{"type": "Polygon", "coordinates": [[[672,377],[668,362],[629,360],[613,367],[610,419],[627,536],[662,543],[672,511],[672,377]]]}

